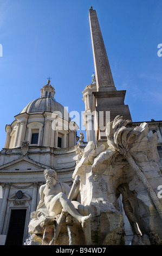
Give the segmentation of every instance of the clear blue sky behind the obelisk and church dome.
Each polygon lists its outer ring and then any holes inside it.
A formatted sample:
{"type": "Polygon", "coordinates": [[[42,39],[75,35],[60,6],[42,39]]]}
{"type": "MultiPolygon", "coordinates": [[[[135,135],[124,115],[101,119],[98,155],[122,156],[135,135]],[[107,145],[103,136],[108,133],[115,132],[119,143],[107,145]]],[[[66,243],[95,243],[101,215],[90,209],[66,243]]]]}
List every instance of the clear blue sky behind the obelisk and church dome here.
{"type": "Polygon", "coordinates": [[[69,112],[85,110],[82,91],[94,72],[91,5],[132,120],[162,120],[161,0],[0,0],[0,150],[5,125],[40,97],[48,76],[56,101],[69,112]]]}

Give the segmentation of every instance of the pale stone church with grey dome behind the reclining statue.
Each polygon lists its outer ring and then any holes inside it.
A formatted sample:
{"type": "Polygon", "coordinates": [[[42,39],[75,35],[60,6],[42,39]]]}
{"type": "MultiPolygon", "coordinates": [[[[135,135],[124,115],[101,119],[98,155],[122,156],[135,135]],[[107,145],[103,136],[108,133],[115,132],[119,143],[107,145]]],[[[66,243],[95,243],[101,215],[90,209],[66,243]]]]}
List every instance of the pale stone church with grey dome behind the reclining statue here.
{"type": "Polygon", "coordinates": [[[40,200],[38,191],[44,182],[44,169],[55,169],[60,181],[72,182],[79,127],[54,100],[54,94],[48,80],[41,88],[40,98],[31,101],[12,124],[6,126],[7,138],[0,157],[3,190],[0,225],[1,234],[8,234],[7,244],[13,242],[10,237],[13,237],[16,220],[12,218],[21,211],[25,220],[22,221],[23,240],[28,234],[30,214],[40,200]]]}

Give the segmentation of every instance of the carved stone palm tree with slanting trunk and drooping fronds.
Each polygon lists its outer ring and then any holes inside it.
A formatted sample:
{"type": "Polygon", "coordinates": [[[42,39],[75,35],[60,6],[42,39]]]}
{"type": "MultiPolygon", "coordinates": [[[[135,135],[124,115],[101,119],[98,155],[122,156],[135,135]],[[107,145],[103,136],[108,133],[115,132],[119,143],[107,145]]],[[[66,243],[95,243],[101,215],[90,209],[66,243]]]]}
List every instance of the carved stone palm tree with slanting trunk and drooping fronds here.
{"type": "Polygon", "coordinates": [[[162,219],[162,206],[159,198],[148,182],[145,174],[142,172],[142,168],[130,152],[131,147],[137,142],[137,139],[139,141],[139,136],[145,131],[147,124],[142,123],[140,126],[133,129],[132,127],[126,127],[129,123],[131,123],[131,121],[123,120],[119,115],[111,123],[108,123],[106,129],[107,143],[111,149],[115,150],[117,154],[121,154],[130,164],[150,194],[152,202],[162,219]]]}

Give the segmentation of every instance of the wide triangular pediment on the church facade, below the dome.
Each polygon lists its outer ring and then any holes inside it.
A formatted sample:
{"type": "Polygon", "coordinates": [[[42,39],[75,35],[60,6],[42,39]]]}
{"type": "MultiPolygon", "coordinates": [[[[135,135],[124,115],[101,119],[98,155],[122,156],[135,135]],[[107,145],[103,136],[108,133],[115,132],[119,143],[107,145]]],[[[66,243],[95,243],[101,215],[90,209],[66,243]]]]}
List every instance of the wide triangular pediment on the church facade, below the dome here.
{"type": "Polygon", "coordinates": [[[27,157],[21,157],[20,159],[11,161],[9,163],[3,164],[0,166],[0,170],[5,170],[5,171],[18,171],[18,170],[44,170],[44,169],[49,169],[51,167],[46,166],[42,163],[35,162],[34,160],[28,159],[27,157]]]}

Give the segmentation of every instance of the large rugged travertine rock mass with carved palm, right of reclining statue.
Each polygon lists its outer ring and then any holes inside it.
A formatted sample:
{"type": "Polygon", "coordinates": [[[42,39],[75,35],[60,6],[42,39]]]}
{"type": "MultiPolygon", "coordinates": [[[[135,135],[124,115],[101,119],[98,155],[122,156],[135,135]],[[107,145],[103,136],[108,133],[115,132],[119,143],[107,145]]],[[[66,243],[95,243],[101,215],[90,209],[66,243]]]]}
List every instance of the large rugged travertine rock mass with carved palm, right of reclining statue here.
{"type": "Polygon", "coordinates": [[[89,142],[73,174],[73,178],[80,175],[81,203],[93,215],[92,241],[96,245],[124,243],[124,223],[118,208],[120,194],[134,234],[133,244],[141,243],[139,240],[144,244],[154,244],[155,240],[161,243],[162,211],[157,188],[162,177],[157,163],[157,138],[153,135],[149,141],[146,123],[135,129],[128,124],[119,116],[109,123],[107,148],[95,148],[89,142]]]}

